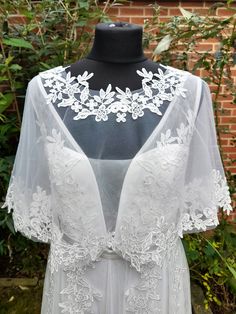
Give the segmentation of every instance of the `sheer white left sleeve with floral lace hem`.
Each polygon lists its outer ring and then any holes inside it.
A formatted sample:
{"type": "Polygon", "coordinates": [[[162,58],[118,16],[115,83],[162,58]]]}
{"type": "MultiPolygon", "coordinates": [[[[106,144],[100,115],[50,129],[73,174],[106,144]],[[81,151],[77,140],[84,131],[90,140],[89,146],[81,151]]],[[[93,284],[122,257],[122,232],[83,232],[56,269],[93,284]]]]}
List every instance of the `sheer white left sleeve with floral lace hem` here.
{"type": "MultiPolygon", "coordinates": [[[[44,150],[42,123],[38,120],[29,82],[23,110],[20,139],[2,208],[13,209],[16,231],[34,241],[51,238],[51,190],[44,150]]],[[[37,102],[39,106],[40,99],[37,102]]],[[[39,110],[39,107],[37,108],[39,110]]]]}

